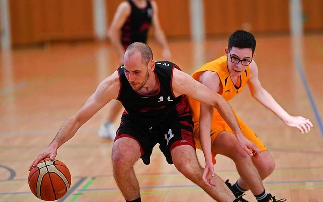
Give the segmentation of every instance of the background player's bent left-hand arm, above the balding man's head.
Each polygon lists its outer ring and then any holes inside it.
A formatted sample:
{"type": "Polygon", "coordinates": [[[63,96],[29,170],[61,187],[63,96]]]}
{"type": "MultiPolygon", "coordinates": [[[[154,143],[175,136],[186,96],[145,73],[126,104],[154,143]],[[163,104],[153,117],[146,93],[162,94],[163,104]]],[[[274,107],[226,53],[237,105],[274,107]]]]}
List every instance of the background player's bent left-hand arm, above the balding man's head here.
{"type": "Polygon", "coordinates": [[[112,45],[116,49],[119,57],[119,63],[123,63],[123,55],[125,50],[120,41],[121,28],[126,22],[128,16],[131,14],[131,6],[128,2],[121,2],[117,8],[117,11],[113,17],[113,20],[109,29],[109,37],[112,45]]]}

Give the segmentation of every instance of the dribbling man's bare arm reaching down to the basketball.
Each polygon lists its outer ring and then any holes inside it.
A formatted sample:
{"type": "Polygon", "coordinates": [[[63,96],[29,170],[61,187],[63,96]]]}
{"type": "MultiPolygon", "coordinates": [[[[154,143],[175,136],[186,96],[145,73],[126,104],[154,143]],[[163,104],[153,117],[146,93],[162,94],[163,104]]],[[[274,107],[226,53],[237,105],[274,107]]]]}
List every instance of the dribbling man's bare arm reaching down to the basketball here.
{"type": "Polygon", "coordinates": [[[119,89],[119,76],[118,72],[115,71],[110,77],[101,82],[83,107],[63,123],[48,148],[32,162],[29,170],[44,158],[49,157],[51,160],[54,160],[57,155],[57,149],[71,139],[76,131],[111,99],[116,99],[119,89]]]}

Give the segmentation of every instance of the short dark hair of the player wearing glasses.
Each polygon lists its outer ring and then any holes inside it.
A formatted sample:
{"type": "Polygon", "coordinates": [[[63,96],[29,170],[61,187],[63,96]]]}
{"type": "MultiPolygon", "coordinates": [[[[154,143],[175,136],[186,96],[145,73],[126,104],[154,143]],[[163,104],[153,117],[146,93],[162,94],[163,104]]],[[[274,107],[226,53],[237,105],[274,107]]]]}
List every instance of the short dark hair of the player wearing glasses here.
{"type": "Polygon", "coordinates": [[[231,34],[228,40],[228,49],[231,50],[232,47],[251,48],[253,54],[256,49],[256,39],[250,32],[237,30],[231,34]]]}

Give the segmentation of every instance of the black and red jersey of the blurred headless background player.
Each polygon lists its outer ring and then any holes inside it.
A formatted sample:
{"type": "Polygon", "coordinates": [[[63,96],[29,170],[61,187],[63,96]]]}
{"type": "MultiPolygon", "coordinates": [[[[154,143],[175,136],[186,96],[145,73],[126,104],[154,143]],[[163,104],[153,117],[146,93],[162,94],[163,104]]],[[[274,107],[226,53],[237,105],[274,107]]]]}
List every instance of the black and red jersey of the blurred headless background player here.
{"type": "Polygon", "coordinates": [[[131,0],[131,14],[121,28],[121,43],[126,49],[134,42],[147,42],[148,29],[152,22],[152,7],[147,1],[146,8],[138,8],[131,0]]]}

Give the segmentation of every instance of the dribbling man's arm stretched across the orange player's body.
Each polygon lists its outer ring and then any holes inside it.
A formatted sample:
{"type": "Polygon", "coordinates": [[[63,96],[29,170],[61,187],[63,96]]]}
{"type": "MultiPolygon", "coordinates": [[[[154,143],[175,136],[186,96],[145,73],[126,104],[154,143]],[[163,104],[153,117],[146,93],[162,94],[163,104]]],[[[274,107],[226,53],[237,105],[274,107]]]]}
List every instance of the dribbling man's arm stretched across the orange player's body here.
{"type": "MultiPolygon", "coordinates": [[[[196,81],[190,75],[177,69],[174,69],[173,72],[172,87],[175,96],[185,94],[195,100],[216,108],[223,119],[228,123],[234,134],[236,134],[238,137],[243,137],[243,133],[239,127],[238,121],[231,106],[221,95],[196,81]]],[[[241,138],[241,140],[243,140],[243,138],[241,138]]],[[[260,150],[256,146],[250,148],[253,150],[254,154],[250,152],[247,147],[242,149],[250,156],[260,154],[260,150]]]]}

